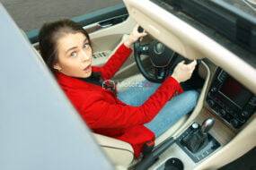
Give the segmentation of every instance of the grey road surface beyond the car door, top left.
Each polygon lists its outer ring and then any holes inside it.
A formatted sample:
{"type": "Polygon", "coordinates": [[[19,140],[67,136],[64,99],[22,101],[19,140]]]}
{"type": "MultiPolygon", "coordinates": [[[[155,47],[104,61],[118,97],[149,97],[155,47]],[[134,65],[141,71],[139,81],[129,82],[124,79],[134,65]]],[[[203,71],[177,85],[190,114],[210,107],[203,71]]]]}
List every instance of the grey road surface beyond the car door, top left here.
{"type": "Polygon", "coordinates": [[[73,18],[105,7],[122,3],[122,0],[1,0],[13,20],[24,31],[40,29],[46,21],[73,18]]]}

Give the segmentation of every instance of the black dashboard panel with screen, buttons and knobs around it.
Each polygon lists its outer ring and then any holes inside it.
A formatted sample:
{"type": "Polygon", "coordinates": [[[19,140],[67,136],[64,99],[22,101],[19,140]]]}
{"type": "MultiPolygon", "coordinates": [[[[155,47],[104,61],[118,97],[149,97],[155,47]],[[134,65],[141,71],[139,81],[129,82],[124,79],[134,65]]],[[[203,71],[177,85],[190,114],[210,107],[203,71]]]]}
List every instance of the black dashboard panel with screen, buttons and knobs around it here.
{"type": "Polygon", "coordinates": [[[256,96],[235,81],[225,71],[218,69],[207,94],[207,104],[212,111],[235,129],[239,129],[256,109],[256,96]]]}

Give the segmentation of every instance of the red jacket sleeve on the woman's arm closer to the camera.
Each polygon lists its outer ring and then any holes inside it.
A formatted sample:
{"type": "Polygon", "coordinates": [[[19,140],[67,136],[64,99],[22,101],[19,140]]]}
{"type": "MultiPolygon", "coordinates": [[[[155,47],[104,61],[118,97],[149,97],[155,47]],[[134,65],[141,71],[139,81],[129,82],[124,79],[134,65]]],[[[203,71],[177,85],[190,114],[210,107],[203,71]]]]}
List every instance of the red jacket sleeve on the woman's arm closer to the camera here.
{"type": "Polygon", "coordinates": [[[180,84],[172,77],[169,77],[141,106],[110,104],[99,96],[90,100],[91,103],[86,102],[81,108],[80,114],[92,129],[128,128],[150,122],[166,102],[176,92],[181,91],[180,84]]]}

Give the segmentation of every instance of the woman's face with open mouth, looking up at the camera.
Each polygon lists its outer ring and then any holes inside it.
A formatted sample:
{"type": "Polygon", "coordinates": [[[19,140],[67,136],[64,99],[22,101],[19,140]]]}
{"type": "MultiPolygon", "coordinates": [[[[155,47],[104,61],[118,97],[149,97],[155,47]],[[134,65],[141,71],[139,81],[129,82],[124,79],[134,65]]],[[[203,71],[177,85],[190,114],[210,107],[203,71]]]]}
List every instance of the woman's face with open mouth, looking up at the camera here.
{"type": "Polygon", "coordinates": [[[67,33],[57,40],[54,69],[67,76],[86,78],[92,74],[92,47],[83,33],[67,33]]]}

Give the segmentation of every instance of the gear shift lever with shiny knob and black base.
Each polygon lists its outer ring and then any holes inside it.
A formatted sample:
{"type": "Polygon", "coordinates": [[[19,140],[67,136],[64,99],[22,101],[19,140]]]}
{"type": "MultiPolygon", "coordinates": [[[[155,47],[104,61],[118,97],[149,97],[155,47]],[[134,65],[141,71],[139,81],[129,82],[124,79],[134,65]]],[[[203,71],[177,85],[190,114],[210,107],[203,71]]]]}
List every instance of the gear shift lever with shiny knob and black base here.
{"type": "Polygon", "coordinates": [[[187,136],[185,136],[181,142],[184,146],[190,149],[191,152],[196,153],[203,146],[208,143],[207,132],[213,127],[215,123],[214,118],[207,118],[201,125],[201,128],[192,130],[187,136]]]}

